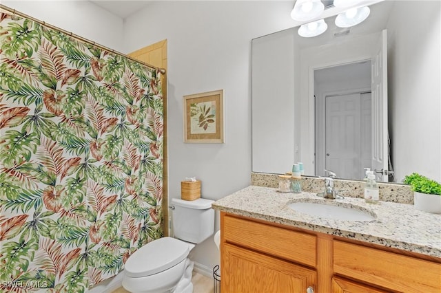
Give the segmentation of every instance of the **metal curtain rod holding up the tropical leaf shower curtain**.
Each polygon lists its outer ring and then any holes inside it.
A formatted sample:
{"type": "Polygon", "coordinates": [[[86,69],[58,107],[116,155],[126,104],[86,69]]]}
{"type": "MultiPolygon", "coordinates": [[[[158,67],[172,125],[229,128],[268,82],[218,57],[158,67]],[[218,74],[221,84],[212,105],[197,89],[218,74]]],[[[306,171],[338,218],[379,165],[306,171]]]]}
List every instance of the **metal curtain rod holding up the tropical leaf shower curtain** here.
{"type": "Polygon", "coordinates": [[[46,28],[50,28],[52,30],[59,30],[60,32],[63,32],[64,34],[68,34],[69,36],[72,36],[73,38],[75,38],[75,39],[77,39],[77,40],[79,40],[79,41],[81,41],[83,43],[88,43],[90,45],[94,45],[96,47],[99,47],[101,50],[105,50],[105,51],[108,51],[108,52],[112,52],[114,54],[118,54],[118,55],[123,56],[123,57],[125,57],[127,59],[130,59],[132,61],[141,63],[141,64],[145,65],[146,67],[149,67],[149,68],[152,68],[152,69],[158,69],[161,72],[161,74],[165,74],[165,69],[164,68],[159,68],[159,67],[150,65],[148,63],[145,63],[143,61],[136,60],[135,58],[132,58],[132,57],[126,55],[126,54],[123,54],[121,52],[117,52],[117,51],[115,51],[113,49],[110,49],[109,47],[105,47],[103,45],[99,45],[99,44],[95,43],[94,41],[90,41],[88,39],[85,39],[82,36],[79,36],[77,34],[73,34],[72,32],[68,32],[68,31],[63,30],[61,28],[57,28],[54,25],[50,25],[49,23],[45,23],[45,21],[40,21],[39,19],[35,19],[34,17],[30,17],[27,14],[18,12],[15,9],[9,8],[8,6],[4,6],[3,4],[0,4],[0,10],[6,10],[7,12],[10,12],[10,13],[12,13],[14,15],[18,15],[19,17],[24,17],[25,19],[30,19],[31,21],[35,21],[36,23],[39,23],[40,25],[45,26],[46,28]]]}

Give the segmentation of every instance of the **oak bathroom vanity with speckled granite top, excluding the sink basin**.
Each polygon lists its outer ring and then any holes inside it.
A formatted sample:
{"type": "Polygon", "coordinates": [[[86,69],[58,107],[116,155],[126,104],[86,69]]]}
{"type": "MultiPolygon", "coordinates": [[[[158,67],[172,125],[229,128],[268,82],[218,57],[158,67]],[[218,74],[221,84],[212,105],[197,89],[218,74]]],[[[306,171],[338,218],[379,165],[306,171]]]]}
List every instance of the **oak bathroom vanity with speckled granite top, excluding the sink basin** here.
{"type": "Polygon", "coordinates": [[[441,215],[411,204],[321,199],[249,186],[220,210],[222,292],[441,292],[441,215]],[[370,221],[299,213],[323,201],[369,210],[370,221]]]}

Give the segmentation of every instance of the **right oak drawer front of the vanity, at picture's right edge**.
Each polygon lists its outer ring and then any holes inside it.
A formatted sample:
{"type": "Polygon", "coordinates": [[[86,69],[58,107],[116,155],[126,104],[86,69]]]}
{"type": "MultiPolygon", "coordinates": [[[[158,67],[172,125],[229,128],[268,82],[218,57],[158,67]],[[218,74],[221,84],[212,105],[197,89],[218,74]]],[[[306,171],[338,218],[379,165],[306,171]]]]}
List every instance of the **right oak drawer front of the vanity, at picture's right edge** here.
{"type": "Polygon", "coordinates": [[[441,264],[405,255],[334,241],[334,274],[399,292],[441,290],[441,264]]]}

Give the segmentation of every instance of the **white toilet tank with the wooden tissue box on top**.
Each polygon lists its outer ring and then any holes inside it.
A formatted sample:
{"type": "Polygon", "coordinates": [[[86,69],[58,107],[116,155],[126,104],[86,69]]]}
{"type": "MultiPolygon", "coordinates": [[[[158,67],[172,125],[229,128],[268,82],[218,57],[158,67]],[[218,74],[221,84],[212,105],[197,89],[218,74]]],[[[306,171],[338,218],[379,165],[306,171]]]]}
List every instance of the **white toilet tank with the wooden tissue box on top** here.
{"type": "Polygon", "coordinates": [[[172,226],[174,237],[192,243],[201,243],[214,232],[213,200],[199,198],[183,200],[172,198],[172,226]]]}

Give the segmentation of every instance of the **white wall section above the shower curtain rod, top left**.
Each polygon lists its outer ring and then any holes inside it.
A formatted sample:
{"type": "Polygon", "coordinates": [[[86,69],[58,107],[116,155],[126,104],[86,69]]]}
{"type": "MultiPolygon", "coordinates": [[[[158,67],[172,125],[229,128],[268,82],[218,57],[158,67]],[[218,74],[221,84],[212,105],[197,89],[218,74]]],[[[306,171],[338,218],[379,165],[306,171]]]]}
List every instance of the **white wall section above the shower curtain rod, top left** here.
{"type": "Polygon", "coordinates": [[[123,19],[90,1],[2,0],[1,4],[117,52],[123,50],[123,19]]]}

